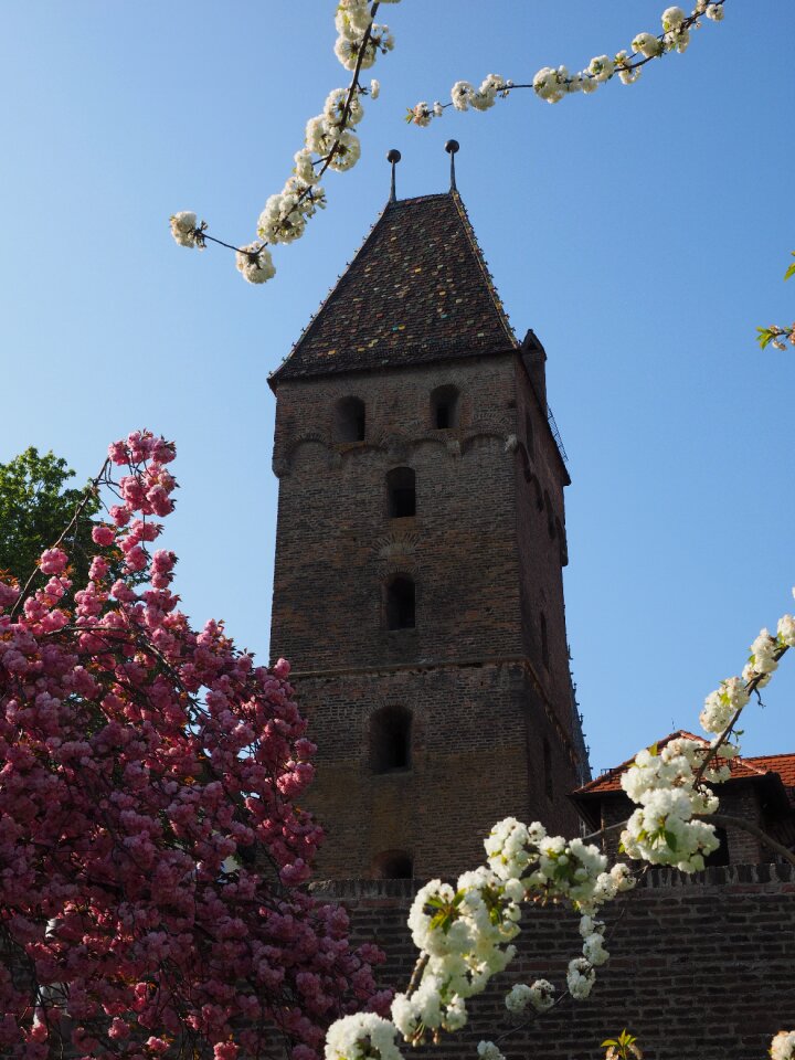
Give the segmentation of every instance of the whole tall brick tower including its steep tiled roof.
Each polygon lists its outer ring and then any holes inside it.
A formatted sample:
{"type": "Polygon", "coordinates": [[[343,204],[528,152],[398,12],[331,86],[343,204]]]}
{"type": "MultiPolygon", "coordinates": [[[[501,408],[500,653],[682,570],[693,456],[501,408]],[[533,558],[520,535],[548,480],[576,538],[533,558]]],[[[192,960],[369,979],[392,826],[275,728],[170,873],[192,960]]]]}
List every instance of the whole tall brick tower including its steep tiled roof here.
{"type": "Polygon", "coordinates": [[[451,876],[587,780],[543,348],[456,192],[390,202],[271,378],[271,654],[293,664],[326,878],[451,876]]]}

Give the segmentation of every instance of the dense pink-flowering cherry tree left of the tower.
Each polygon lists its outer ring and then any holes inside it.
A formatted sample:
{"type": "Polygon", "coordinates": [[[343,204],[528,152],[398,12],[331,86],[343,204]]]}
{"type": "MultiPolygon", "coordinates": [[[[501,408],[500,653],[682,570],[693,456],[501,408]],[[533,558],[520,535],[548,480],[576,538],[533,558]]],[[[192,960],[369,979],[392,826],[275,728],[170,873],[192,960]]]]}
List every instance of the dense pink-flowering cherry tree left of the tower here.
{"type": "Polygon", "coordinates": [[[153,549],[173,457],[110,446],[87,584],[57,547],[0,581],[2,1057],[315,1060],[335,1019],[389,1005],[379,952],[303,887],[322,833],[295,802],[315,748],[288,665],[192,629],[153,549]]]}

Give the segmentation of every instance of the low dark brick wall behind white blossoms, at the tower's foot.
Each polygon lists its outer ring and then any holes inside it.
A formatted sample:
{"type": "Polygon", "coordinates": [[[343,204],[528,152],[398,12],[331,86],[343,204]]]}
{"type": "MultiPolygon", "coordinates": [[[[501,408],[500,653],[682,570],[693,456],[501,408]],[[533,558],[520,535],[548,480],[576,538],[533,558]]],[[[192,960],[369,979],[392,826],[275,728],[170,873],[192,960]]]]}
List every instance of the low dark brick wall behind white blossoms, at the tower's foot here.
{"type": "MultiPolygon", "coordinates": [[[[317,897],[350,910],[356,937],[388,954],[383,985],[405,988],[414,957],[405,919],[417,884],[317,884],[317,897]]],[[[565,1001],[504,1046],[515,1060],[586,1060],[628,1027],[645,1060],[764,1060],[772,1036],[795,1026],[795,872],[789,866],[712,868],[687,878],[654,869],[606,918],[610,962],[586,1001],[565,1001]],[[617,922],[617,923],[616,923],[617,922]]],[[[523,919],[520,953],[500,989],[471,1003],[471,1026],[416,1053],[436,1060],[476,1054],[508,1026],[502,997],[515,982],[559,985],[579,952],[576,918],[555,908],[523,919]]],[[[414,1053],[411,1052],[411,1056],[414,1053]]]]}

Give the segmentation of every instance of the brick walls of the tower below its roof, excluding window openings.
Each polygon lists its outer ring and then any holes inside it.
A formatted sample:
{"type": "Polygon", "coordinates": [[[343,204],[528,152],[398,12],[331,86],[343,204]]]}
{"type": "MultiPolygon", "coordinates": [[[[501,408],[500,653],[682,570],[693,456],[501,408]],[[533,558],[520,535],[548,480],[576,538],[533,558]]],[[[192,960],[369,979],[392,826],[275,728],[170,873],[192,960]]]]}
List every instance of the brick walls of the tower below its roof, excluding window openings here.
{"type": "Polygon", "coordinates": [[[367,877],[398,849],[417,876],[456,872],[507,814],[575,831],[568,475],[520,353],[285,380],[277,399],[271,654],[290,659],[319,748],[307,799],[330,831],[319,871],[367,877]],[[460,394],[451,430],[432,426],[443,385],[460,394]],[[336,437],[344,398],[364,402],[363,442],[336,437]],[[415,471],[416,513],[391,519],[399,466],[415,471]],[[386,627],[395,574],[415,580],[414,629],[386,627]],[[404,773],[370,765],[384,706],[413,713],[404,773]]]}

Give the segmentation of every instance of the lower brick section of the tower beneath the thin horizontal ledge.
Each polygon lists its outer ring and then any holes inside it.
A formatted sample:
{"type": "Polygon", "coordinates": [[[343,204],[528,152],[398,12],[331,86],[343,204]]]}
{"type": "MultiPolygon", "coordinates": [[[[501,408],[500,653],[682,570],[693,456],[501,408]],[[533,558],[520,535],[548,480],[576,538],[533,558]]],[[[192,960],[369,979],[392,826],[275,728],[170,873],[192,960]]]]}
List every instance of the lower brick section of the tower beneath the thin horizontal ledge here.
{"type": "Polygon", "coordinates": [[[306,804],[328,837],[316,876],[343,878],[357,866],[369,877],[382,855],[401,850],[417,878],[455,877],[481,860],[484,835],[507,816],[576,834],[562,780],[573,770],[565,734],[526,664],[465,658],[307,677],[298,698],[318,744],[306,804]],[[393,706],[412,712],[411,764],[378,773],[370,729],[393,706]]]}

